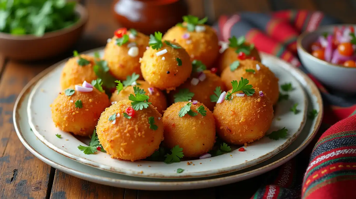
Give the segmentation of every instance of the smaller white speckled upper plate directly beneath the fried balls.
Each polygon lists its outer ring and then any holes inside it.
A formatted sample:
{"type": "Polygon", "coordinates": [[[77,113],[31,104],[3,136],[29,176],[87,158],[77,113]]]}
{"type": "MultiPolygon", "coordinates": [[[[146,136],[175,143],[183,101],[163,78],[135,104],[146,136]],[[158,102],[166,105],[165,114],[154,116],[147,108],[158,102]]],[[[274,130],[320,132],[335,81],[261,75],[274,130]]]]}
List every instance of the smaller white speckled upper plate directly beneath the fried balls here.
{"type": "MultiPolygon", "coordinates": [[[[103,49],[98,50],[103,53],[103,49]]],[[[94,50],[87,54],[93,54],[94,50]]],[[[249,144],[245,152],[232,150],[230,153],[207,159],[190,160],[195,165],[187,165],[187,162],[165,164],[164,162],[150,161],[123,161],[110,158],[110,155],[98,152],[85,155],[77,147],[89,143],[89,139],[78,139],[70,133],[62,132],[54,126],[49,105],[61,91],[59,77],[66,60],[57,64],[36,83],[28,100],[28,121],[40,141],[52,150],[68,158],[85,165],[109,172],[147,177],[147,178],[197,178],[220,175],[251,167],[261,163],[273,155],[281,152],[300,134],[306,120],[308,100],[304,88],[301,86],[307,81],[305,76],[293,66],[279,61],[273,56],[263,56],[263,63],[268,66],[279,78],[279,84],[291,82],[294,90],[289,92],[288,101],[282,101],[275,107],[275,117],[268,133],[286,127],[288,136],[284,139],[272,140],[268,137],[249,144]],[[290,108],[298,103],[300,112],[294,114],[290,108]],[[59,139],[55,134],[61,134],[59,139]],[[201,163],[201,164],[200,164],[201,163]],[[150,166],[150,167],[149,167],[150,166]],[[177,169],[184,169],[183,173],[177,173],[177,169]]],[[[235,148],[236,149],[236,148],[235,148]]]]}

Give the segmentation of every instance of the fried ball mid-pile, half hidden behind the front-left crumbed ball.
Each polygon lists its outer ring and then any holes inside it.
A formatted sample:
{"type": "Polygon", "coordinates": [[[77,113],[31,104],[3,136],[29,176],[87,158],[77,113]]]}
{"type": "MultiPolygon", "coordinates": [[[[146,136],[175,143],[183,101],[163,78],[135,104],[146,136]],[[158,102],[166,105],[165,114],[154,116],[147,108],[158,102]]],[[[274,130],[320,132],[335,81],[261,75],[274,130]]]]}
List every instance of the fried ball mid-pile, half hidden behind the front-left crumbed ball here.
{"type": "MultiPolygon", "coordinates": [[[[157,111],[159,113],[163,113],[164,110],[167,108],[167,100],[166,96],[164,96],[163,92],[160,91],[158,88],[152,87],[149,83],[142,81],[142,80],[137,80],[137,87],[140,87],[141,89],[145,90],[146,94],[148,97],[150,97],[150,102],[152,102],[152,106],[157,108],[157,111]],[[148,90],[148,88],[151,88],[152,94],[148,90]]],[[[117,93],[117,90],[112,93],[110,101],[111,102],[118,102],[121,100],[127,100],[129,98],[130,94],[134,94],[133,91],[133,86],[128,86],[124,90],[121,90],[120,93],[117,93]]]]}

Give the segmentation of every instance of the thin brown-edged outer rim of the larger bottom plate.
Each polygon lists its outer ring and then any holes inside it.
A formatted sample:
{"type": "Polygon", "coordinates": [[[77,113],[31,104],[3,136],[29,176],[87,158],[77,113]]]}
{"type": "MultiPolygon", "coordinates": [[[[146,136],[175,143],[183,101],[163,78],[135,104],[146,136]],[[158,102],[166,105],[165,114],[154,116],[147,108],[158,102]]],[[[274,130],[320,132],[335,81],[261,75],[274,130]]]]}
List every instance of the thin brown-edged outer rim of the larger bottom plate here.
{"type": "MultiPolygon", "coordinates": [[[[98,49],[93,49],[93,50],[90,50],[90,51],[99,50],[99,49],[102,49],[102,47],[101,47],[101,48],[98,48],[98,49]]],[[[90,51],[89,51],[89,52],[90,52],[90,51]]],[[[261,53],[261,54],[265,54],[265,53],[261,53]]],[[[268,55],[268,56],[272,56],[272,55],[268,55]]],[[[274,56],[272,56],[272,57],[274,57],[274,56]]],[[[274,57],[274,58],[277,58],[277,57],[274,57]]],[[[277,59],[278,59],[279,61],[284,62],[283,60],[280,60],[279,58],[277,58],[277,59]]],[[[33,78],[33,79],[25,86],[25,88],[23,88],[23,90],[21,91],[19,97],[17,98],[17,100],[16,100],[16,102],[15,102],[15,106],[14,106],[13,118],[14,118],[14,121],[15,121],[14,126],[15,126],[16,133],[17,133],[17,135],[19,136],[20,141],[25,145],[25,147],[26,147],[28,150],[31,151],[31,153],[33,153],[36,157],[38,157],[39,159],[41,159],[43,162],[45,162],[45,163],[47,163],[47,164],[53,166],[54,168],[58,168],[58,169],[60,169],[60,170],[64,170],[66,173],[70,173],[70,174],[72,174],[72,175],[74,175],[74,176],[77,176],[77,177],[79,177],[79,178],[88,178],[88,177],[86,177],[86,176],[89,176],[90,179],[92,179],[92,180],[93,180],[93,179],[96,179],[96,180],[98,180],[98,181],[100,181],[101,183],[104,183],[104,184],[105,184],[105,182],[109,182],[109,181],[112,182],[113,179],[111,179],[111,178],[107,178],[107,179],[105,179],[105,180],[102,180],[103,177],[96,176],[96,175],[88,175],[88,174],[86,174],[86,173],[83,173],[83,172],[80,172],[80,171],[78,171],[78,170],[71,169],[71,168],[68,168],[68,167],[64,167],[64,166],[61,165],[61,164],[58,164],[58,163],[56,163],[56,162],[53,162],[52,160],[49,160],[48,158],[44,157],[42,154],[38,153],[35,149],[33,149],[33,148],[28,144],[28,142],[25,141],[25,139],[22,137],[22,132],[20,132],[20,130],[19,130],[19,121],[16,119],[17,116],[18,116],[18,115],[17,115],[17,111],[18,111],[18,109],[19,109],[19,104],[20,104],[20,102],[22,102],[22,100],[23,100],[23,96],[25,96],[24,94],[30,92],[30,91],[28,91],[28,88],[30,88],[33,84],[35,84],[37,81],[39,81],[40,78],[43,77],[44,75],[46,75],[49,71],[52,71],[52,70],[53,70],[55,67],[57,67],[60,63],[65,62],[66,60],[68,60],[68,58],[65,59],[65,60],[62,60],[62,61],[60,61],[60,62],[58,62],[58,63],[56,63],[56,64],[54,64],[53,66],[47,68],[46,70],[42,71],[42,72],[39,73],[35,78],[33,78]]],[[[286,62],[286,63],[287,63],[287,62],[286,62]]],[[[289,64],[289,63],[287,63],[287,64],[289,64]]],[[[263,166],[263,167],[253,169],[253,170],[250,170],[250,171],[245,172],[245,173],[230,175],[230,176],[226,176],[226,177],[222,177],[222,178],[214,178],[214,179],[206,179],[206,180],[196,180],[196,182],[202,182],[202,181],[203,181],[203,182],[210,182],[211,180],[217,180],[217,179],[230,180],[230,181],[231,181],[231,180],[234,180],[234,179],[236,179],[236,178],[240,178],[240,177],[242,177],[242,176],[250,176],[250,175],[253,175],[253,174],[257,175],[258,173],[261,173],[261,172],[263,172],[263,171],[267,172],[268,170],[271,170],[271,169],[273,169],[273,168],[278,167],[279,165],[283,164],[283,163],[286,162],[287,160],[289,160],[289,159],[291,159],[292,157],[294,157],[295,155],[297,155],[297,154],[300,152],[300,150],[304,149],[304,148],[307,146],[307,144],[310,143],[310,141],[315,137],[316,131],[317,131],[317,130],[319,129],[319,127],[320,127],[321,118],[322,118],[322,116],[323,116],[323,102],[322,102],[322,100],[321,100],[320,92],[319,92],[319,90],[317,89],[317,87],[316,87],[316,85],[314,84],[314,82],[313,82],[305,73],[303,73],[303,72],[300,71],[299,69],[296,70],[295,72],[298,72],[299,75],[302,75],[302,76],[304,77],[304,79],[305,79],[307,85],[309,86],[310,92],[311,92],[313,95],[316,96],[316,98],[317,98],[316,103],[317,103],[318,106],[319,106],[319,113],[320,113],[320,114],[318,114],[318,117],[316,118],[316,121],[315,121],[315,124],[314,124],[313,132],[312,132],[312,134],[310,134],[310,136],[307,138],[307,140],[306,140],[305,142],[303,142],[302,144],[300,144],[300,146],[299,146],[298,148],[294,149],[294,150],[293,150],[292,152],[290,152],[288,155],[286,155],[286,156],[284,156],[284,157],[282,157],[282,158],[276,160],[275,162],[272,162],[272,163],[270,163],[270,164],[267,164],[267,165],[265,165],[265,166],[263,166]]],[[[311,99],[311,100],[313,100],[313,99],[311,99]]],[[[21,105],[21,104],[20,104],[20,105],[21,105]]],[[[313,128],[313,126],[312,126],[312,128],[313,128]]],[[[140,176],[140,177],[141,177],[141,176],[140,176]]],[[[115,181],[115,182],[116,182],[116,181],[119,181],[119,182],[120,182],[120,181],[123,181],[123,180],[114,179],[114,181],[115,181]]],[[[135,180],[134,180],[134,181],[132,181],[132,180],[124,180],[124,181],[125,181],[125,182],[137,182],[137,181],[135,181],[135,180]]],[[[189,182],[191,183],[191,182],[195,182],[195,181],[189,181],[189,182]]],[[[147,184],[147,183],[148,183],[148,184],[156,184],[157,182],[144,182],[143,184],[147,184]]],[[[167,183],[168,183],[168,184],[173,183],[174,185],[177,185],[177,184],[181,184],[181,183],[184,184],[184,183],[187,183],[187,182],[159,182],[158,184],[160,184],[160,183],[166,183],[166,184],[167,184],[167,183]]],[[[229,183],[229,182],[227,182],[227,183],[229,183]]],[[[136,184],[137,184],[137,183],[136,183],[136,184]]],[[[140,184],[140,183],[138,183],[138,184],[140,184]]],[[[110,185],[111,185],[111,184],[110,184],[110,185]]]]}

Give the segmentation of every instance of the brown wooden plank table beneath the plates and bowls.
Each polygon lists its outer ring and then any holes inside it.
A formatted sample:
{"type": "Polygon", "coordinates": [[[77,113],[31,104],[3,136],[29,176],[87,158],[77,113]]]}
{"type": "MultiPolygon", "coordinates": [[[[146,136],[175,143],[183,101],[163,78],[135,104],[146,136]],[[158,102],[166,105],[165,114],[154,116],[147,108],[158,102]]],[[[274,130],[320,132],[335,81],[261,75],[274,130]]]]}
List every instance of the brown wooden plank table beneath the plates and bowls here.
{"type": "MultiPolygon", "coordinates": [[[[79,52],[104,46],[119,27],[110,13],[109,0],[81,1],[91,16],[79,52]]],[[[281,9],[322,10],[342,21],[355,23],[355,0],[187,0],[190,13],[209,16],[214,21],[221,14],[235,11],[271,11],[281,9]],[[247,3],[248,2],[248,3],[247,3]]],[[[32,155],[16,136],[12,109],[16,97],[31,78],[53,63],[71,56],[73,49],[47,61],[21,63],[0,55],[0,196],[1,198],[250,198],[260,187],[261,176],[243,182],[194,191],[142,191],[91,183],[51,168],[32,155]],[[239,191],[238,191],[239,190],[239,191]],[[242,191],[243,190],[243,191],[242,191]]]]}

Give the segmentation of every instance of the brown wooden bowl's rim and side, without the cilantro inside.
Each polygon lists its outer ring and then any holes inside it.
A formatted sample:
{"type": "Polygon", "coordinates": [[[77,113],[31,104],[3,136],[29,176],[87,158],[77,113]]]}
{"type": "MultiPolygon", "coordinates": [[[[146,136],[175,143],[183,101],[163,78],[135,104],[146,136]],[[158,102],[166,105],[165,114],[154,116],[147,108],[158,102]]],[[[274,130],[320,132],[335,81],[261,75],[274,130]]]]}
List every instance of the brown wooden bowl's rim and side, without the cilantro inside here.
{"type": "Polygon", "coordinates": [[[0,33],[0,54],[16,60],[40,60],[68,50],[83,33],[88,21],[84,6],[75,7],[79,19],[68,28],[45,33],[41,37],[33,35],[10,35],[0,33]]]}

